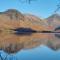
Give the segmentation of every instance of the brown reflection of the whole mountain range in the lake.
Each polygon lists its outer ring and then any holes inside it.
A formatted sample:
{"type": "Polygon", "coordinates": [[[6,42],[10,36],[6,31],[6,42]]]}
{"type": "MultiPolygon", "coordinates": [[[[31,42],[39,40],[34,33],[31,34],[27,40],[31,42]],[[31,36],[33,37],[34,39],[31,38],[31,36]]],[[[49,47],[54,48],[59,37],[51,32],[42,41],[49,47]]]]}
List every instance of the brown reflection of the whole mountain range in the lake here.
{"type": "Polygon", "coordinates": [[[41,44],[53,50],[60,49],[60,39],[55,33],[33,33],[22,36],[10,33],[0,34],[0,49],[8,53],[16,53],[21,49],[32,49],[41,44]]]}

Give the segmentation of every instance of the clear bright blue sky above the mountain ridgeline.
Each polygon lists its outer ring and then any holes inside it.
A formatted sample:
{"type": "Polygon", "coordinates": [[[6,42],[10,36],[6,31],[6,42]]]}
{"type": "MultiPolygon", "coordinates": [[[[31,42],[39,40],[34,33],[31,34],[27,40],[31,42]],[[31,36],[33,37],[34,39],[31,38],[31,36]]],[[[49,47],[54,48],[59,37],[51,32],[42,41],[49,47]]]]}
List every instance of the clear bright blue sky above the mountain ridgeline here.
{"type": "Polygon", "coordinates": [[[40,18],[47,18],[54,13],[58,4],[58,0],[34,0],[30,4],[20,1],[0,0],[0,12],[6,11],[7,9],[17,9],[23,14],[32,14],[40,18]]]}

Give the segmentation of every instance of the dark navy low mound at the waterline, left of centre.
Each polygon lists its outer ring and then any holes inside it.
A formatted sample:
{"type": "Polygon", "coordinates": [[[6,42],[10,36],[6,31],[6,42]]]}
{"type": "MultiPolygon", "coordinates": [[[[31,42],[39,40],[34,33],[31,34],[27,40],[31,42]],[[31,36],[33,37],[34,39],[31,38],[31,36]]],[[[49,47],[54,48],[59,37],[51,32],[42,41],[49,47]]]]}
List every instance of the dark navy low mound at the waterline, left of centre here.
{"type": "Polygon", "coordinates": [[[15,34],[17,34],[17,35],[20,35],[20,34],[22,34],[22,35],[25,35],[25,34],[30,35],[32,33],[37,32],[36,30],[33,30],[31,28],[17,28],[17,29],[12,29],[12,30],[16,31],[15,34]]]}

